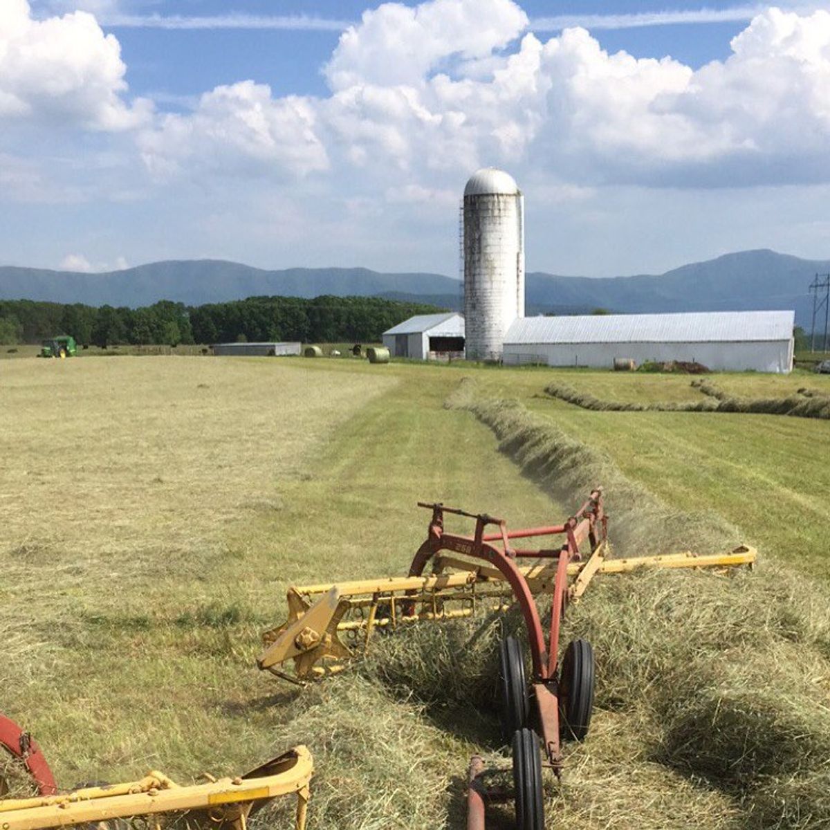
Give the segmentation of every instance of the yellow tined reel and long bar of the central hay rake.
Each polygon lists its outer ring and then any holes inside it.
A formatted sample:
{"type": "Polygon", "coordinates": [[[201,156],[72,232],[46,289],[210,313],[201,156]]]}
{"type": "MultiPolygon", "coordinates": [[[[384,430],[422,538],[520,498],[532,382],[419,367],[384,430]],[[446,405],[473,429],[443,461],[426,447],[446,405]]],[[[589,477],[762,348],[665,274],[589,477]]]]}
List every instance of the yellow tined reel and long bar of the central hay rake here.
{"type": "MultiPolygon", "coordinates": [[[[568,565],[570,601],[579,602],[598,574],[624,574],[643,568],[752,567],[758,553],[741,545],[730,553],[705,556],[686,551],[632,559],[609,557],[608,543],[601,542],[585,562],[568,565]]],[[[553,590],[556,568],[555,560],[548,560],[519,571],[530,590],[539,594],[553,590]]],[[[288,619],[263,634],[266,648],[257,663],[286,680],[303,682],[339,671],[344,659],[365,652],[376,628],[469,617],[481,603],[508,608],[512,593],[499,569],[457,555],[437,554],[429,576],[305,585],[289,588],[287,602],[288,619]],[[460,607],[447,608],[447,604],[460,607]],[[407,613],[402,613],[402,605],[407,613]],[[293,676],[281,668],[290,660],[294,661],[293,676]]]]}

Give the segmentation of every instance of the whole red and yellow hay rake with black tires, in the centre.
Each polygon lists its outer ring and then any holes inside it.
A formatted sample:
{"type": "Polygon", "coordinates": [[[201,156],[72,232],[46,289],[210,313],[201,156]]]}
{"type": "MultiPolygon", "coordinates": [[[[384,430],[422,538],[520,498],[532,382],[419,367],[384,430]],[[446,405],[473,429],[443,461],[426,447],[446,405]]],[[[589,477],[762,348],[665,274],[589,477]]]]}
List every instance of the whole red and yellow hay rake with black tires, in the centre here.
{"type": "MultiPolygon", "coordinates": [[[[340,671],[346,661],[365,652],[376,631],[468,617],[479,608],[506,610],[518,605],[530,647],[530,681],[520,639],[503,638],[500,720],[505,740],[512,745],[517,826],[541,830],[542,767],[548,766],[559,777],[560,741],[583,740],[593,708],[591,644],[575,639],[564,649],[559,646],[567,605],[579,602],[598,574],[642,567],[726,569],[753,564],[756,553],[741,546],[728,554],[611,559],[601,489],[593,491],[563,524],[523,530],[508,530],[504,520],[440,503],[418,506],[431,510],[432,519],[408,576],[289,588],[288,619],[263,635],[266,648],[258,664],[303,684],[340,671]],[[448,533],[446,515],[474,520],[473,535],[448,533]],[[494,530],[487,532],[488,528],[494,530]],[[564,540],[547,548],[513,547],[518,540],[551,536],[564,540]],[[520,564],[521,560],[530,564],[520,564]],[[432,573],[425,575],[428,564],[432,573]],[[547,642],[536,597],[550,601],[547,642]],[[291,672],[288,662],[293,662],[291,672]]],[[[505,792],[487,788],[484,762],[477,756],[469,774],[467,828],[482,830],[486,802],[504,800],[505,792]]]]}

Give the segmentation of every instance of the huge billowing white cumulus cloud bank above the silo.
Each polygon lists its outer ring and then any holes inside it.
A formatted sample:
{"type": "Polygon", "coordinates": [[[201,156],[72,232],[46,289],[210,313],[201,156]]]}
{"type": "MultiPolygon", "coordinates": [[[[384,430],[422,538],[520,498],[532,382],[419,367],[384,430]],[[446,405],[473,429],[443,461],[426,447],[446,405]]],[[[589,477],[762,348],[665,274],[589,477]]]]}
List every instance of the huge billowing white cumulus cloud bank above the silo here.
{"type": "Polygon", "coordinates": [[[527,26],[512,0],[386,3],[340,37],[329,96],[217,87],[144,131],[144,160],[162,175],[360,170],[380,193],[481,164],[588,186],[828,180],[830,13],[761,12],[697,70],[609,53],[581,27],[517,41],[527,26]]]}

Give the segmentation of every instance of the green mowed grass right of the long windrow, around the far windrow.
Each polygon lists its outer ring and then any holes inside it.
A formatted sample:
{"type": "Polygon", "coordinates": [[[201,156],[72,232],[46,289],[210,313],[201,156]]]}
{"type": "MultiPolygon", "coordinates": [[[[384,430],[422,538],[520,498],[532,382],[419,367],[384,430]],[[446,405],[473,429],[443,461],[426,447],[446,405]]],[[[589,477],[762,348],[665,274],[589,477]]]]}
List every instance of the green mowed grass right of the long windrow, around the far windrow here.
{"type": "MultiPolygon", "coordinates": [[[[735,395],[778,397],[803,386],[827,390],[830,378],[713,375],[735,395]]],[[[564,380],[577,390],[599,386],[616,400],[671,400],[681,378],[649,381],[606,374],[564,380]]],[[[682,378],[686,384],[688,378],[682,378]]],[[[701,393],[689,387],[690,393],[701,393]]],[[[622,471],[680,510],[713,508],[764,554],[830,579],[830,424],[810,418],[738,413],[588,412],[524,394],[531,409],[607,452],[622,471]]],[[[677,399],[677,398],[675,398],[677,399]]]]}

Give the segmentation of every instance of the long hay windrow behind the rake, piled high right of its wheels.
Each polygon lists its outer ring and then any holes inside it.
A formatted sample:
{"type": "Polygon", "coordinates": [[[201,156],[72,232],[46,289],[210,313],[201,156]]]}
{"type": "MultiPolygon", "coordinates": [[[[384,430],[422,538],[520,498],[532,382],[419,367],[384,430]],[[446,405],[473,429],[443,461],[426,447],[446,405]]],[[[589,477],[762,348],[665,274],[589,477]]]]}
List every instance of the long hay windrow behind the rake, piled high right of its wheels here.
{"type": "MultiPolygon", "coordinates": [[[[455,401],[559,500],[603,484],[615,552],[714,552],[715,513],[671,510],[607,457],[520,403],[455,401]]],[[[765,559],[730,577],[645,571],[595,580],[568,637],[598,660],[597,727],[569,749],[559,816],[578,828],[823,828],[830,821],[830,597],[765,559]],[[621,755],[623,757],[621,757],[621,755]]]]}

